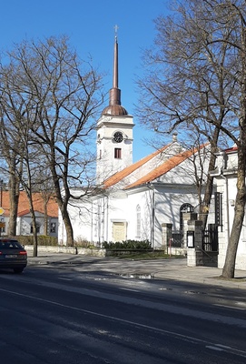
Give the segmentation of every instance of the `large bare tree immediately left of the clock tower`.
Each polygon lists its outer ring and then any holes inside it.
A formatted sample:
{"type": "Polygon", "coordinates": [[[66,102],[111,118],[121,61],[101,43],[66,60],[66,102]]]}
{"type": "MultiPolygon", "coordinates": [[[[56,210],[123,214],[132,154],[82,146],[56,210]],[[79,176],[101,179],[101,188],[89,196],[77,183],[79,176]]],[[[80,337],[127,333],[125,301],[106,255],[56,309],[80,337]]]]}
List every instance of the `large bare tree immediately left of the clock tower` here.
{"type": "Polygon", "coordinates": [[[94,182],[89,171],[95,159],[88,142],[103,104],[102,76],[79,59],[64,36],[24,42],[7,56],[16,93],[25,101],[28,138],[50,170],[66,243],[73,246],[67,207],[71,187],[94,182]]]}

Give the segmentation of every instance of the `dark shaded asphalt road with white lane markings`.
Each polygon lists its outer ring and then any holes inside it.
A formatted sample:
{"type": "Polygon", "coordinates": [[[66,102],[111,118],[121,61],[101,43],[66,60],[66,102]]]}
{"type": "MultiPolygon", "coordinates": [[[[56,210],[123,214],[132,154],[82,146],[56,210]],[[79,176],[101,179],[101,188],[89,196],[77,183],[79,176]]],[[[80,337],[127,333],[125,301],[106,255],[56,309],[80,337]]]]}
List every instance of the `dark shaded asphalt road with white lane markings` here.
{"type": "Polygon", "coordinates": [[[4,364],[245,363],[246,299],[229,288],[72,267],[0,272],[4,364]]]}

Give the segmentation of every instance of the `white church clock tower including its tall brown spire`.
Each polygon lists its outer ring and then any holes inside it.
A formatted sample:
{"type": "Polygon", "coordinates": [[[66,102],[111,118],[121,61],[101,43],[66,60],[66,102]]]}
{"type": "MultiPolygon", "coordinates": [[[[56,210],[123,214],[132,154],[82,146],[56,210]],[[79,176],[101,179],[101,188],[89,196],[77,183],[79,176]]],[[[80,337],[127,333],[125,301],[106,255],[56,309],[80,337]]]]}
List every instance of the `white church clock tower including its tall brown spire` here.
{"type": "MultiPolygon", "coordinates": [[[[116,28],[116,26],[115,26],[116,28]]],[[[114,40],[113,88],[109,93],[109,106],[103,109],[97,122],[97,183],[124,167],[133,164],[133,116],[121,105],[118,88],[118,41],[114,40]]]]}

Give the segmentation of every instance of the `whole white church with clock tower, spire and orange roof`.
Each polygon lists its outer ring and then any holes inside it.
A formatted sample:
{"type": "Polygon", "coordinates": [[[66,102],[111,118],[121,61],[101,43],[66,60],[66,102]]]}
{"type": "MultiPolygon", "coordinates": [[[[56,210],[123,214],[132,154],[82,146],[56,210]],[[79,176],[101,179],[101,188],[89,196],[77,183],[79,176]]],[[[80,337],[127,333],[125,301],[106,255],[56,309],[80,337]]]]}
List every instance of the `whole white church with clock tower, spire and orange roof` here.
{"type": "MultiPolygon", "coordinates": [[[[162,224],[182,230],[183,212],[198,211],[195,177],[206,179],[202,173],[207,170],[209,145],[185,150],[174,134],[168,145],[133,163],[133,126],[133,116],[121,105],[115,37],[113,88],[109,106],[97,122],[99,192],[70,201],[75,241],[101,246],[104,241],[147,239],[153,248],[162,248],[162,224]]],[[[73,189],[73,194],[79,196],[82,191],[81,187],[73,189]]],[[[61,216],[58,240],[66,244],[61,216]]]]}

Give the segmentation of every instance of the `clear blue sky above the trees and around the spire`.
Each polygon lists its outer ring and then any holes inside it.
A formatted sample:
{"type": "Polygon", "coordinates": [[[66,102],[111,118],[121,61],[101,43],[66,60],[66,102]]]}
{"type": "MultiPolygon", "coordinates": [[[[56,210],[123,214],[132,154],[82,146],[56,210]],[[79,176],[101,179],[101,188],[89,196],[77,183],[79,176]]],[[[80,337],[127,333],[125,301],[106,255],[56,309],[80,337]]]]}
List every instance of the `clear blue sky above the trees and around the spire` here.
{"type": "MultiPolygon", "coordinates": [[[[93,66],[112,87],[114,25],[119,26],[119,87],[122,105],[134,116],[138,94],[134,80],[143,75],[142,50],[153,44],[153,19],[166,15],[169,0],[3,0],[0,49],[24,39],[68,35],[79,56],[92,56],[93,66]]],[[[107,106],[107,104],[105,104],[107,106]]],[[[134,117],[133,161],[153,151],[143,142],[149,132],[134,117]]]]}

